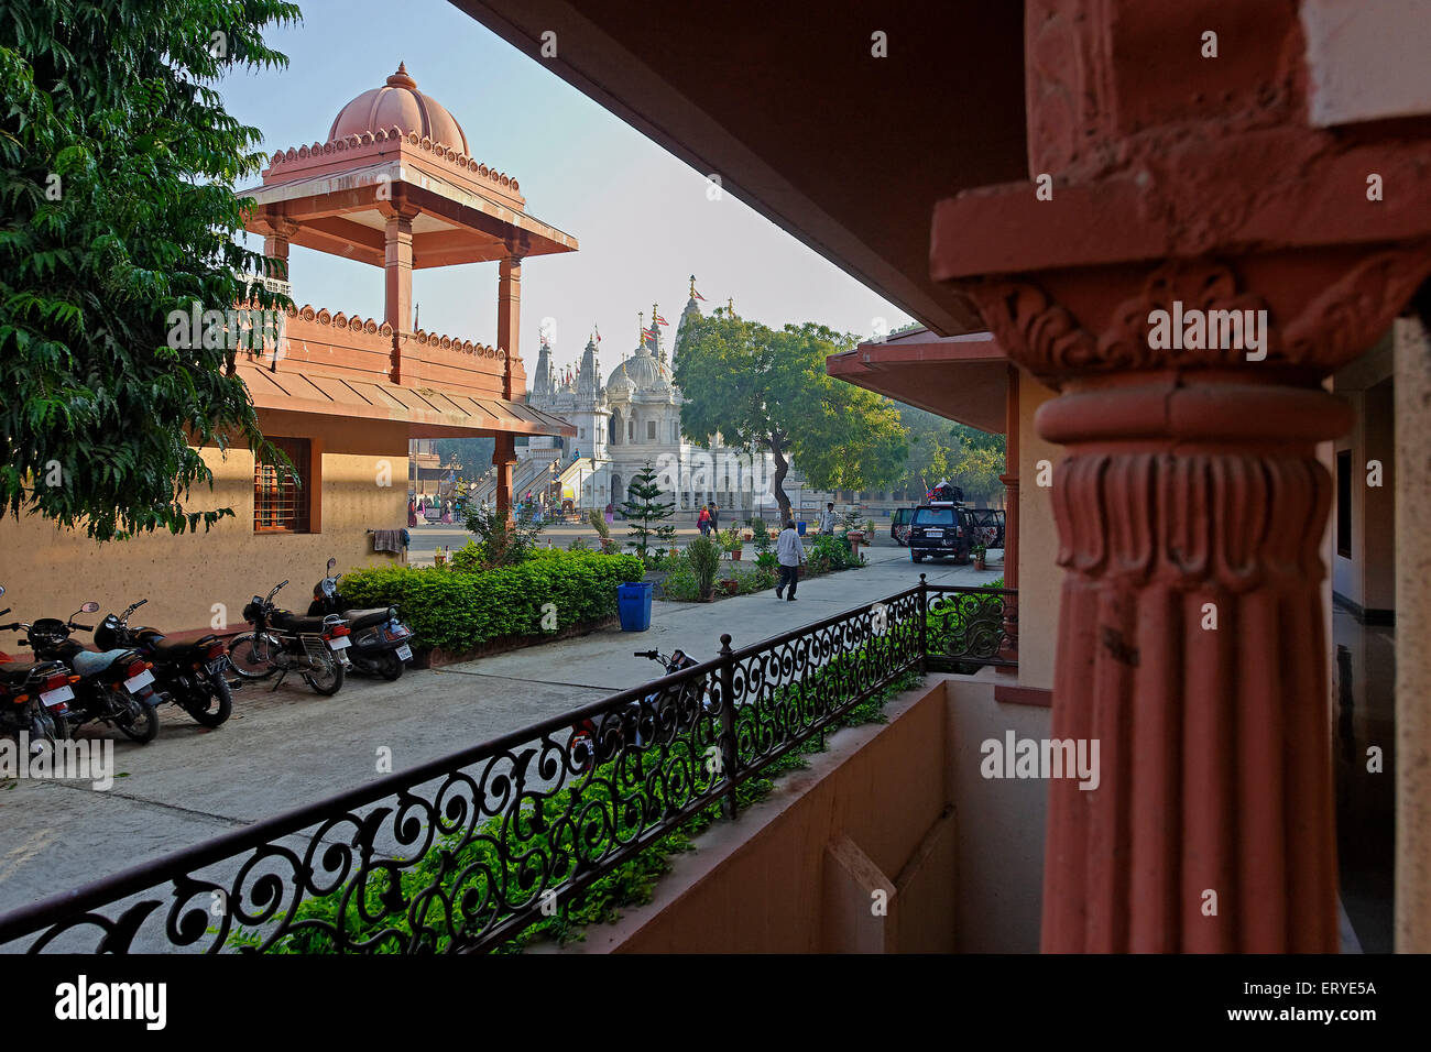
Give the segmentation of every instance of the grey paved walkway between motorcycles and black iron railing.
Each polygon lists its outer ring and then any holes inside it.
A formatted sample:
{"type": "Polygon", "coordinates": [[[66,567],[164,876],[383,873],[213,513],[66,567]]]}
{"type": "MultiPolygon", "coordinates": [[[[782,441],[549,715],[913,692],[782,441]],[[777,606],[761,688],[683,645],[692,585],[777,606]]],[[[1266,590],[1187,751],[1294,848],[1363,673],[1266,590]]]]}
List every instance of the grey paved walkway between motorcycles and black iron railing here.
{"type": "MultiPolygon", "coordinates": [[[[884,544],[889,544],[887,541],[884,544]]],[[[924,562],[897,547],[867,550],[871,565],[803,581],[797,603],[757,593],[711,604],[655,603],[645,633],[607,630],[462,666],[408,671],[396,683],[352,677],[323,698],[290,678],[235,694],[235,714],[205,730],[173,706],[159,740],[117,740],[113,789],[0,781],[0,912],[218,833],[445,756],[617,690],[660,668],[635,650],[681,647],[714,657],[720,634],[741,647],[873,603],[919,581],[983,584],[1000,570],[924,562]]]]}

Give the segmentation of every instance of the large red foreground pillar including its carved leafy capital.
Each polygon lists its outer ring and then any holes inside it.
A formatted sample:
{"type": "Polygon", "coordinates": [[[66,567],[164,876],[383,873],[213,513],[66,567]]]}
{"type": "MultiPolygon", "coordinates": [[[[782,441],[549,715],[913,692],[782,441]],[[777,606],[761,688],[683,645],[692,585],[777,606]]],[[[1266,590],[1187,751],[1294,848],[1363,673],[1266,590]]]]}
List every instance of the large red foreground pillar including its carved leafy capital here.
{"type": "Polygon", "coordinates": [[[1043,949],[1337,952],[1321,384],[1431,272],[1420,183],[1365,192],[1427,149],[1307,126],[1295,4],[1025,9],[1029,180],[942,202],[932,273],[1060,391],[1052,737],[1098,783],[1049,783],[1043,949]]]}

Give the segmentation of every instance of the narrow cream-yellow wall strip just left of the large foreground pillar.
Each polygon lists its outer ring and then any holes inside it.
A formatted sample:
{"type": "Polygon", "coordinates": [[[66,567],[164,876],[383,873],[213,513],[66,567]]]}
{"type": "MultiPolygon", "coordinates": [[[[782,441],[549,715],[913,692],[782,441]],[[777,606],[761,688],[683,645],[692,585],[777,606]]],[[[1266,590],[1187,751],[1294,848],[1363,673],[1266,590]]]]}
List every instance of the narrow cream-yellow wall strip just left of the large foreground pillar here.
{"type": "Polygon", "coordinates": [[[1033,414],[1058,395],[1027,372],[1019,375],[1019,686],[1053,688],[1063,570],[1052,488],[1039,485],[1039,461],[1058,471],[1063,447],[1039,438],[1033,414]]]}

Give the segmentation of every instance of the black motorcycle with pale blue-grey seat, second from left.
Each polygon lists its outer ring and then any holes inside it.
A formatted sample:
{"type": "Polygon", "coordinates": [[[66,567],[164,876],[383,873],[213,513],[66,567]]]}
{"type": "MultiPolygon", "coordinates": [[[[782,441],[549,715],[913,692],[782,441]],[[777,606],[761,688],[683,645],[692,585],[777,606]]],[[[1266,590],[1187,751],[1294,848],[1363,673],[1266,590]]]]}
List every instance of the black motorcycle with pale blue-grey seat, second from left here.
{"type": "Polygon", "coordinates": [[[10,625],[9,631],[24,631],[37,658],[63,661],[79,676],[73,686],[74,704],[66,714],[72,734],[86,723],[104,723],[135,741],[153,741],[159,736],[156,707],[167,700],[155,690],[153,666],[136,650],[84,650],[70,638],[76,628],[94,631],[93,625],[77,624],[74,617],[97,610],[99,603],[86,603],[66,621],[41,617],[34,624],[10,625]]]}

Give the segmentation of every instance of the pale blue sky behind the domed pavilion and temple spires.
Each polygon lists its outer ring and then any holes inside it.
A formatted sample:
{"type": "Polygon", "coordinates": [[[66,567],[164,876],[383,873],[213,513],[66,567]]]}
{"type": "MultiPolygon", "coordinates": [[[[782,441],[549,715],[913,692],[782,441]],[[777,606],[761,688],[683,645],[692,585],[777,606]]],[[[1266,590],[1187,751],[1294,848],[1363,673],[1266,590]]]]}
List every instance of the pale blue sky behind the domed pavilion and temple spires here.
{"type": "MultiPolygon", "coordinates": [[[[610,372],[635,348],[637,312],[650,323],[653,302],[671,323],[663,329],[670,348],[693,273],[707,313],[733,296],[740,316],[771,326],[814,321],[869,336],[876,319],[889,329],[909,323],[907,313],[728,192],[710,200],[705,173],[445,0],[308,0],[302,7],[299,27],[266,34],[289,67],[222,82],[229,112],[262,129],[269,155],[323,142],[345,103],[405,62],[418,90],[456,117],[472,156],[514,176],[528,212],[581,245],[522,265],[528,375],[544,318],[555,321],[557,365],[575,366],[595,325],[610,372]]],[[[250,246],[262,249],[262,239],[250,238],[250,246]]],[[[382,316],[379,268],[293,248],[289,276],[298,305],[382,316]]],[[[424,329],[494,342],[497,263],[414,271],[412,286],[424,329]]]]}

